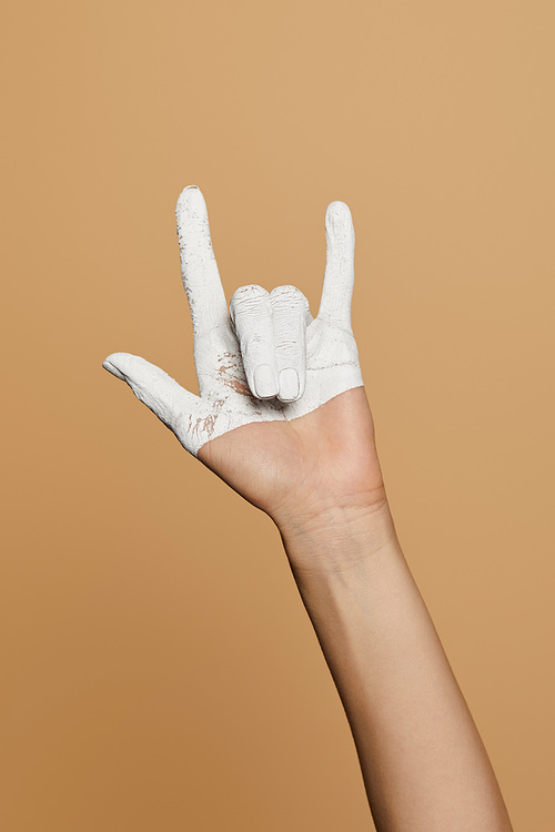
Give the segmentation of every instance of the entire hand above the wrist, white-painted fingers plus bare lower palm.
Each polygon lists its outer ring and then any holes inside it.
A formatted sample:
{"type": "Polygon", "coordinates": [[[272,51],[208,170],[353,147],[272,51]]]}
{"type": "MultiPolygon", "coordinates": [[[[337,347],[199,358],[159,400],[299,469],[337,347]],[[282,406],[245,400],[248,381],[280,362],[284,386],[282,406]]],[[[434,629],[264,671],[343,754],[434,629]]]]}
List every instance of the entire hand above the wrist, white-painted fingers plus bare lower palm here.
{"type": "Polygon", "coordinates": [[[325,214],[320,310],[294,286],[239,288],[230,314],[201,191],[176,205],[193,323],[196,396],[129,353],[103,366],[189,450],[280,526],[385,503],[374,428],[351,328],[354,229],[343,202],[325,214]]]}

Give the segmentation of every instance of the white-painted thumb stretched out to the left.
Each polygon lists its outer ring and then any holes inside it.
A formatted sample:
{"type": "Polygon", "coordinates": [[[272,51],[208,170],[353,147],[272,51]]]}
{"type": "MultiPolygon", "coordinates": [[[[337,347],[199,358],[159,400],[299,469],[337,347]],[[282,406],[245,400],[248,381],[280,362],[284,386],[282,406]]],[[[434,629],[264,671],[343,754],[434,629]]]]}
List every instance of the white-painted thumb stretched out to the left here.
{"type": "Polygon", "coordinates": [[[127,382],[137,398],[172,430],[181,444],[196,456],[194,443],[188,443],[184,426],[205,412],[202,400],[189,393],[155,364],[130,353],[112,353],[102,362],[104,369],[127,382]],[[192,419],[190,418],[192,417],[192,419]]]}

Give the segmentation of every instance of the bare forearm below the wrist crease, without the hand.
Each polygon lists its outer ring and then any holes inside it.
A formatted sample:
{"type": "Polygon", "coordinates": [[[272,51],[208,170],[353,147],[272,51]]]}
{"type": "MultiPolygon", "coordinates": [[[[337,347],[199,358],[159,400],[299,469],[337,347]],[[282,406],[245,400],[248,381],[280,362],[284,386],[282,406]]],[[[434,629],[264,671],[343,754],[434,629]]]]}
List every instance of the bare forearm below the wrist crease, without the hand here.
{"type": "Polygon", "coordinates": [[[282,530],[376,829],[509,832],[487,753],[383,511],[377,527],[375,517],[341,513],[282,530]]]}

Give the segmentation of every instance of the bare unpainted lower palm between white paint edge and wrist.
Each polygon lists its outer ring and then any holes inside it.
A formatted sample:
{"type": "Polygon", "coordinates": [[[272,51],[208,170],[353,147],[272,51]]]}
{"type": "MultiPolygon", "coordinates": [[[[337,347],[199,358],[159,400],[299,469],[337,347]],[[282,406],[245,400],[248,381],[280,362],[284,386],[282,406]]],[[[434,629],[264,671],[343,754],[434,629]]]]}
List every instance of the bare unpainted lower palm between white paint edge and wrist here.
{"type": "Polygon", "coordinates": [[[274,520],[384,500],[364,387],[292,422],[251,423],[206,443],[199,459],[274,520]]]}

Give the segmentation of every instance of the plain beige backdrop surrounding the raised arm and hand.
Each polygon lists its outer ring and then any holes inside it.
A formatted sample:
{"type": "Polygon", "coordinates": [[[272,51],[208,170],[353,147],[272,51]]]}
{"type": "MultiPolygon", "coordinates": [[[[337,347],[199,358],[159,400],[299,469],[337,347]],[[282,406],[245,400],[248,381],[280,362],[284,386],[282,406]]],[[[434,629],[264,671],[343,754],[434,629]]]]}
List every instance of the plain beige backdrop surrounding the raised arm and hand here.
{"type": "Polygon", "coordinates": [[[350,205],[398,535],[515,830],[549,832],[553,3],[4,9],[2,830],[370,825],[276,529],[101,366],[196,392],[195,183],[228,300],[313,314],[350,205]]]}

